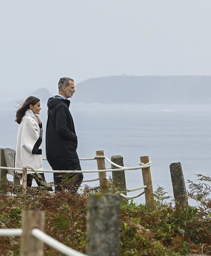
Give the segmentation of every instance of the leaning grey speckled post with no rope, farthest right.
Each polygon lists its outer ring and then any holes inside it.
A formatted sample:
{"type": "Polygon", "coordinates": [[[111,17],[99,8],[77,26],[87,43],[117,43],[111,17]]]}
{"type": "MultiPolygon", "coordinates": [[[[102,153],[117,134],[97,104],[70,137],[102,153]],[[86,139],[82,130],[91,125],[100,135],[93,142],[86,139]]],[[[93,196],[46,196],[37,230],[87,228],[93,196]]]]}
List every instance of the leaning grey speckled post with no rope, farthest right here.
{"type": "Polygon", "coordinates": [[[188,197],[181,163],[170,164],[171,182],[174,193],[175,206],[188,208],[188,197]]]}

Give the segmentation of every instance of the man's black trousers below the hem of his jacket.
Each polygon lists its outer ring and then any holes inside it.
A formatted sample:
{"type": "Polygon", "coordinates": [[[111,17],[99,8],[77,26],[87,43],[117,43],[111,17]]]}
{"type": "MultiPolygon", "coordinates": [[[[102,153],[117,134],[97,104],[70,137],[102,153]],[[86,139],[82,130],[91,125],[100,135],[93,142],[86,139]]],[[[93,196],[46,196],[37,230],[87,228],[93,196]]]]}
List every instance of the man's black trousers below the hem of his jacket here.
{"type": "MultiPolygon", "coordinates": [[[[70,164],[65,170],[81,170],[80,163],[70,164]]],[[[83,173],[54,173],[55,192],[64,188],[76,193],[83,177],[83,173]]]]}

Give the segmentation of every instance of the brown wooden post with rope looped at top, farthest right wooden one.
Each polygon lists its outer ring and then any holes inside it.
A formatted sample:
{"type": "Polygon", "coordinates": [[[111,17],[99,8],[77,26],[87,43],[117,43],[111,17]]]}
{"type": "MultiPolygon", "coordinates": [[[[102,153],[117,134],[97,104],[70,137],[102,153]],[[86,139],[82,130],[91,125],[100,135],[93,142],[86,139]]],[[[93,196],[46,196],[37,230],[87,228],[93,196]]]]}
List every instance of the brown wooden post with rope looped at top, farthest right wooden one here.
{"type": "MultiPolygon", "coordinates": [[[[149,157],[140,157],[142,163],[148,163],[149,157]]],[[[145,193],[145,200],[146,200],[146,206],[154,208],[154,205],[152,205],[152,200],[154,199],[153,195],[153,188],[152,188],[152,178],[151,178],[151,172],[150,167],[149,168],[143,168],[142,170],[142,177],[143,177],[143,185],[148,185],[147,188],[144,189],[145,193]]]]}

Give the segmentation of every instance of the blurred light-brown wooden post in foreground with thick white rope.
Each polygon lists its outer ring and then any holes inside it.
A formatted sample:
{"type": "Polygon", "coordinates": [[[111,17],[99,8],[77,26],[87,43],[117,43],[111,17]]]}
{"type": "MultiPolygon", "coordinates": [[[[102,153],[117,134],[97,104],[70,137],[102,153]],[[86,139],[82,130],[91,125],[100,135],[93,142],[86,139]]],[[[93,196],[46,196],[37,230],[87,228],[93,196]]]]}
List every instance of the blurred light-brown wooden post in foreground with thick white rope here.
{"type": "Polygon", "coordinates": [[[31,235],[33,228],[44,231],[44,217],[42,211],[23,211],[20,256],[43,256],[43,242],[31,235]]]}

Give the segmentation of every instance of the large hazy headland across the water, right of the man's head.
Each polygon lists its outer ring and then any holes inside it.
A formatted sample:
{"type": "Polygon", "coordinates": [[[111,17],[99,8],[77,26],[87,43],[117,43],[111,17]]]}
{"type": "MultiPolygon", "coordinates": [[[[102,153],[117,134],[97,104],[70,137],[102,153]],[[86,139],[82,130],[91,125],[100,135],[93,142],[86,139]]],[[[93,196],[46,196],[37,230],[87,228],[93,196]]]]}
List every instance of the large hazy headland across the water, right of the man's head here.
{"type": "Polygon", "coordinates": [[[76,84],[74,102],[210,103],[211,76],[111,76],[76,84]]]}

